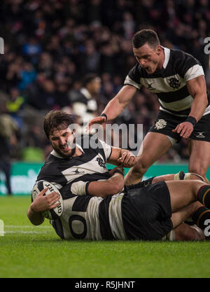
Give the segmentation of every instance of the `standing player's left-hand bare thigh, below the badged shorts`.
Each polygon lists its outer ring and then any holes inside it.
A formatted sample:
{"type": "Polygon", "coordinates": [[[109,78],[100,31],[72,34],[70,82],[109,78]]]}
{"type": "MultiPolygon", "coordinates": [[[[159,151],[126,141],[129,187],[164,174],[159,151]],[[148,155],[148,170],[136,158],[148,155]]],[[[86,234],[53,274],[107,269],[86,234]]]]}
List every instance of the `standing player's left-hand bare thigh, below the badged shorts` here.
{"type": "Polygon", "coordinates": [[[139,149],[139,161],[137,164],[148,167],[167,153],[172,143],[165,134],[148,132],[139,149]]]}

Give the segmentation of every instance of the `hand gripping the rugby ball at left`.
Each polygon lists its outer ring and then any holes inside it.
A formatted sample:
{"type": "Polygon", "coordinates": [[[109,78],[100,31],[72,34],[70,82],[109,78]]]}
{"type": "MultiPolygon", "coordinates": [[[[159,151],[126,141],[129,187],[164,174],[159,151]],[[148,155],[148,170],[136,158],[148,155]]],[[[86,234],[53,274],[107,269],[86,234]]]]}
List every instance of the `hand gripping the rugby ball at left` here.
{"type": "Polygon", "coordinates": [[[52,192],[48,195],[45,195],[48,188],[44,188],[38,195],[34,202],[31,203],[31,209],[35,212],[47,211],[59,206],[59,194],[56,192],[52,192]]]}

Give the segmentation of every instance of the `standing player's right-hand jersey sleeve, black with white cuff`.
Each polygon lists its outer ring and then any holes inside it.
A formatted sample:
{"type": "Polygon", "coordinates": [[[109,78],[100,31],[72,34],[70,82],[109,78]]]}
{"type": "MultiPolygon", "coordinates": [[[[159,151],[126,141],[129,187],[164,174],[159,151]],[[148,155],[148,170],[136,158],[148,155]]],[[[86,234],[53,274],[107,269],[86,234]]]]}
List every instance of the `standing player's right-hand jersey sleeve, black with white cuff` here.
{"type": "Polygon", "coordinates": [[[185,81],[204,75],[204,70],[200,62],[195,57],[186,54],[183,62],[180,63],[182,75],[185,81]]]}

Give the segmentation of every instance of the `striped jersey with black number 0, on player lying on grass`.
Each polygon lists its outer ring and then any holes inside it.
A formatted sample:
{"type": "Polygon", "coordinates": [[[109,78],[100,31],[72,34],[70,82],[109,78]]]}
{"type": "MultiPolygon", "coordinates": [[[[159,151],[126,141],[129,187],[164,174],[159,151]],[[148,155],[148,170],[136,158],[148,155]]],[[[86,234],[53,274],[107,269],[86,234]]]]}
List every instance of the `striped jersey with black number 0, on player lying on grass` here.
{"type": "MultiPolygon", "coordinates": [[[[63,190],[60,190],[62,197],[66,197],[63,190]]],[[[62,239],[127,239],[122,219],[123,195],[118,193],[104,199],[69,195],[63,201],[62,216],[50,223],[62,239]]]]}

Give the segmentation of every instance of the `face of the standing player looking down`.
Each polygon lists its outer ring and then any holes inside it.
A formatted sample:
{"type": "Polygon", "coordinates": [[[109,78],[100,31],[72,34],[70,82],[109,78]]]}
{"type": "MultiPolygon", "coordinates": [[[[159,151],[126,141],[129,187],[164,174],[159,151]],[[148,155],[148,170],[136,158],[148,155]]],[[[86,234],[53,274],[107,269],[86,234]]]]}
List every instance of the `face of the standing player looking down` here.
{"type": "Polygon", "coordinates": [[[148,43],[140,48],[133,48],[134,56],[137,62],[147,71],[148,74],[153,74],[156,69],[161,69],[162,67],[162,55],[161,47],[151,48],[148,43]]]}

